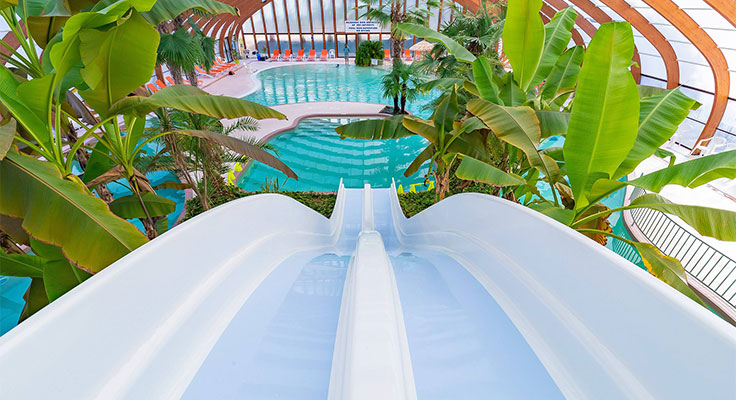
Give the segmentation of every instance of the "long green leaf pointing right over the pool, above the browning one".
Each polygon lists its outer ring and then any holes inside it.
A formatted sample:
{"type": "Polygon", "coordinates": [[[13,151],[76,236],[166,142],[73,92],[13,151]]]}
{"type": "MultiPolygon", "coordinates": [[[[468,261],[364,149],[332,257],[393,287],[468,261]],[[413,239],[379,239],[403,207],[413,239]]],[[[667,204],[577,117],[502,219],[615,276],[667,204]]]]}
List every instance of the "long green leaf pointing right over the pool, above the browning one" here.
{"type": "Polygon", "coordinates": [[[286,119],[284,114],[258,103],[234,97],[213,96],[202,89],[187,85],[169,86],[150,97],[127,97],[118,101],[110,112],[144,117],[161,107],[209,115],[214,118],[249,116],[255,119],[286,119]]]}

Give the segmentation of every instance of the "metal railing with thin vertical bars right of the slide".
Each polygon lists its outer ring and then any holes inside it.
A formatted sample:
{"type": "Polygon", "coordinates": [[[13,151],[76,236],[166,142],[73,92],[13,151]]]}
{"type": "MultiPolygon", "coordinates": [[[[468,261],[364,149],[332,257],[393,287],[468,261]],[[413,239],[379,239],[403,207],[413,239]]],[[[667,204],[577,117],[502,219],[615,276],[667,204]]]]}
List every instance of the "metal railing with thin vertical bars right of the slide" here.
{"type": "MultiPolygon", "coordinates": [[[[634,189],[631,200],[644,193],[640,188],[634,189]]],[[[736,306],[736,261],[692,234],[665,213],[637,208],[631,210],[631,217],[650,243],[657,246],[663,254],[680,260],[692,277],[736,306]]]]}

